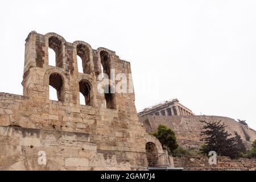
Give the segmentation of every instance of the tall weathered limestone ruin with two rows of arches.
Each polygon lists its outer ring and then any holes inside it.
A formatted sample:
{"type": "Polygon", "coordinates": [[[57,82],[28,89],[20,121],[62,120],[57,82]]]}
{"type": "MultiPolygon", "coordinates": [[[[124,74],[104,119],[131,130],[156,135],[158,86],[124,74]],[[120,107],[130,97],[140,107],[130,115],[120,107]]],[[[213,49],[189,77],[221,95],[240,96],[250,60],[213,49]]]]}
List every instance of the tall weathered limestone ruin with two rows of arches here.
{"type": "MultiPolygon", "coordinates": [[[[148,136],[138,121],[133,93],[101,94],[97,76],[131,73],[130,63],[106,48],[66,42],[32,31],[26,39],[23,96],[0,93],[0,169],[145,169],[148,136]],[[48,49],[56,67],[48,65],[48,49]],[[84,73],[77,69],[77,55],[84,73]],[[58,101],[49,100],[49,85],[58,101]],[[79,93],[86,105],[80,105],[79,93]],[[46,165],[38,152],[46,152],[46,165]]],[[[158,142],[159,143],[159,142],[158,142]]],[[[156,145],[157,152],[163,152],[156,145]]]]}

